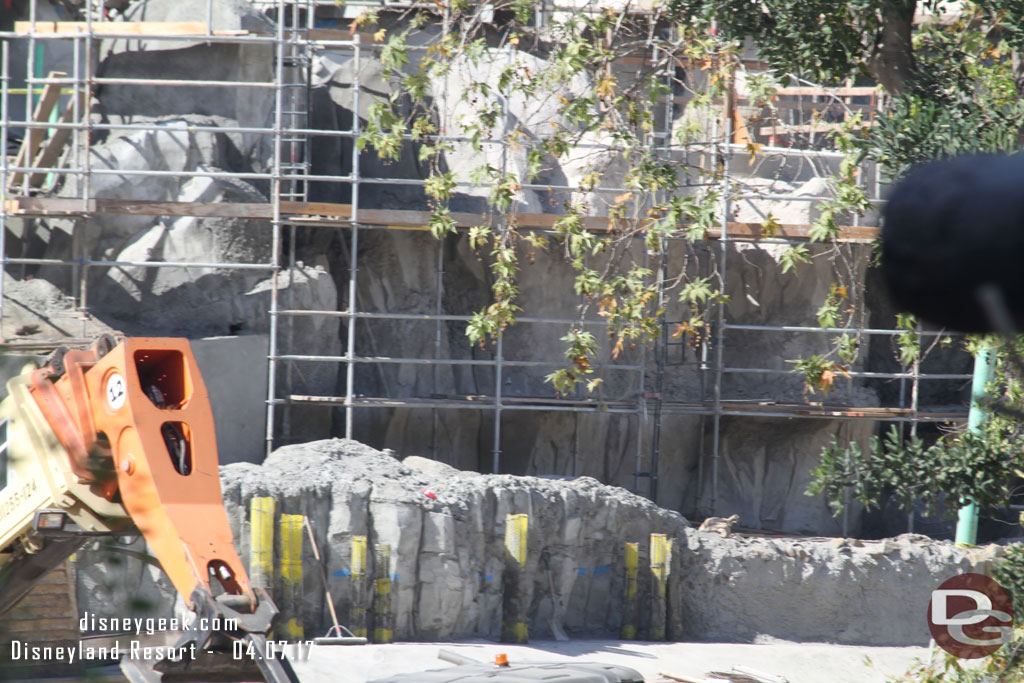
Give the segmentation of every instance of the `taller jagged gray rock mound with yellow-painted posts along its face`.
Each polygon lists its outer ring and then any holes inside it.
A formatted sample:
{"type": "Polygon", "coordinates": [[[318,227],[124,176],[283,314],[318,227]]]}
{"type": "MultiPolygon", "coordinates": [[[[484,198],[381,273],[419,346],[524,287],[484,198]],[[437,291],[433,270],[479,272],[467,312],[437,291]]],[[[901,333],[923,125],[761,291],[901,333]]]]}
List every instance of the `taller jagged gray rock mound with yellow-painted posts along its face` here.
{"type": "MultiPolygon", "coordinates": [[[[248,552],[249,502],[270,496],[279,512],[312,520],[343,614],[350,615],[361,599],[343,574],[350,570],[352,538],[364,536],[371,546],[391,548],[387,570],[368,570],[396,577],[391,595],[396,638],[496,638],[502,627],[506,515],[526,513],[530,580],[524,590],[532,595],[530,612],[540,609],[530,625],[540,637],[550,634],[546,614],[552,609],[550,599],[541,606],[542,596],[550,595],[542,555],[556,593],[566,601],[574,595],[582,603],[566,624],[579,633],[610,632],[617,629],[618,616],[614,581],[604,574],[622,553],[622,543],[646,538],[651,528],[674,533],[686,526],[676,513],[587,477],[562,482],[464,474],[422,460],[411,464],[415,469],[360,443],[334,439],[279,449],[262,466],[222,468],[224,500],[243,554],[248,552]]],[[[307,620],[315,618],[323,601],[318,578],[308,573],[307,620]]]]}

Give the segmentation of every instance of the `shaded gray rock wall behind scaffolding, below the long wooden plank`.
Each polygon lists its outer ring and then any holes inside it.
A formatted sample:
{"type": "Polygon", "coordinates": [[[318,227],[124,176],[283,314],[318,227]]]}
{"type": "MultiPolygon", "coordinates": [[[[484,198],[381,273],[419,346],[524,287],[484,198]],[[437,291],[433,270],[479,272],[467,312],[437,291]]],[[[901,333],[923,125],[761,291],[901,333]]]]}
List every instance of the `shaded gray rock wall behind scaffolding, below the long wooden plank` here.
{"type": "MultiPolygon", "coordinates": [[[[464,237],[438,245],[429,236],[408,231],[360,234],[357,304],[379,312],[433,310],[436,297],[437,250],[442,250],[441,312],[467,314],[486,305],[487,276],[464,237]]],[[[717,248],[717,246],[713,246],[717,248]]],[[[697,249],[703,249],[698,246],[697,249]]],[[[673,248],[670,259],[683,258],[683,246],[673,248]]],[[[772,245],[730,245],[727,255],[730,297],[727,319],[733,324],[801,325],[816,327],[814,313],[828,292],[830,265],[826,259],[800,266],[799,276],[781,273],[778,249],[772,245]]],[[[707,253],[703,256],[709,256],[707,253]]],[[[523,248],[519,253],[520,305],[524,315],[560,317],[569,314],[573,298],[572,273],[557,247],[551,253],[523,248]],[[563,293],[563,294],[562,294],[563,293]]],[[[642,255],[637,255],[642,258],[642,255]]],[[[667,317],[685,319],[683,306],[672,302],[667,317]]],[[[471,346],[464,323],[442,323],[440,334],[430,321],[373,321],[356,324],[357,353],[374,356],[492,359],[495,347],[471,346]]],[[[505,359],[549,361],[547,367],[506,367],[502,394],[511,400],[555,398],[545,376],[564,362],[560,338],[567,325],[520,323],[503,340],[505,359]]],[[[593,328],[600,344],[598,360],[604,384],[591,397],[634,404],[654,386],[652,354],[639,346],[611,357],[610,344],[593,328]],[[645,365],[636,370],[616,366],[645,365]],[[643,383],[641,383],[641,381],[643,383]]],[[[766,368],[778,374],[727,374],[723,399],[804,403],[803,379],[786,362],[828,348],[825,335],[730,330],[726,334],[725,366],[766,368]]],[[[699,349],[676,346],[665,371],[665,394],[672,400],[706,401],[712,398],[712,373],[698,367],[699,349]]],[[[713,351],[710,358],[713,358],[713,351]]],[[[852,370],[860,370],[858,364],[852,370]]],[[[356,390],[368,396],[429,398],[489,396],[496,391],[490,367],[428,365],[360,366],[355,371],[356,390]]],[[[339,385],[338,392],[345,387],[339,385]]],[[[820,394],[812,397],[820,400],[820,394]]],[[[853,388],[845,378],[837,381],[829,400],[874,405],[878,398],[863,388],[853,388]]],[[[488,400],[489,402],[489,400],[488,400]]],[[[648,412],[653,401],[646,401],[648,412]]],[[[478,411],[438,412],[436,427],[426,411],[394,409],[356,411],[355,438],[375,447],[399,454],[429,455],[461,469],[493,470],[493,421],[478,411]],[[433,449],[433,450],[432,450],[433,449]]],[[[587,475],[600,481],[646,493],[646,482],[634,472],[649,471],[653,446],[650,418],[641,415],[594,413],[542,413],[508,410],[502,416],[500,468],[514,474],[587,475]],[[639,431],[639,433],[638,433],[639,431]]],[[[669,414],[663,417],[658,446],[659,486],[656,502],[689,513],[710,511],[712,494],[711,419],[669,414]],[[701,435],[703,434],[703,439],[701,435]],[[701,459],[703,460],[701,464],[701,459]]],[[[854,440],[863,447],[873,433],[867,422],[726,418],[722,421],[719,453],[720,492],[716,514],[738,512],[744,524],[794,532],[839,533],[821,499],[804,496],[808,472],[821,449],[831,438],[854,440]],[[764,509],[761,509],[764,502],[764,509]]],[[[854,511],[855,512],[855,511],[854,511]]],[[[852,517],[856,517],[853,514],[852,517]]],[[[849,533],[856,527],[850,526],[849,533]]]]}

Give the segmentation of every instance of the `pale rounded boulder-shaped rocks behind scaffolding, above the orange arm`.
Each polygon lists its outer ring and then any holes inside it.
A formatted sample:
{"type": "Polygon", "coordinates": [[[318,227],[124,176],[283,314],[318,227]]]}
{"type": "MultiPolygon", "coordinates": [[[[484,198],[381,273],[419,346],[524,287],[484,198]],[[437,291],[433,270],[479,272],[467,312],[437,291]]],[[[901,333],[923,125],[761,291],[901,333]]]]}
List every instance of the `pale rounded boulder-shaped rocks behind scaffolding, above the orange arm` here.
{"type": "MultiPolygon", "coordinates": [[[[169,202],[265,204],[255,185],[231,177],[190,176],[195,170],[218,171],[244,167],[231,137],[196,131],[193,124],[216,126],[222,119],[169,117],[154,131],[124,131],[96,144],[93,169],[134,169],[180,172],[180,176],[97,174],[90,193],[97,199],[169,202]]],[[[70,180],[61,195],[75,196],[82,188],[70,180]]],[[[271,258],[269,221],[238,218],[154,217],[97,215],[75,226],[51,221],[48,242],[34,248],[49,258],[73,257],[76,249],[95,259],[199,263],[265,264],[271,258]],[[81,246],[73,242],[80,230],[81,246]]],[[[33,248],[32,244],[28,245],[33,248]]],[[[40,276],[71,291],[69,268],[44,267],[40,276]]],[[[122,265],[90,270],[90,310],[128,334],[209,336],[267,331],[269,269],[153,268],[122,265]]],[[[333,310],[337,296],[332,279],[323,268],[299,265],[294,284],[288,272],[279,279],[282,302],[333,310]],[[291,289],[291,293],[288,290],[291,289]]],[[[337,351],[336,318],[303,317],[293,321],[284,334],[309,342],[306,352],[337,351]]],[[[284,337],[283,337],[284,339],[284,337]]],[[[317,390],[330,393],[334,375],[317,373],[317,390]],[[328,376],[329,375],[329,376],[328,376]]],[[[299,391],[299,393],[305,392],[299,391]]],[[[323,434],[324,432],[316,432],[323,434]]]]}

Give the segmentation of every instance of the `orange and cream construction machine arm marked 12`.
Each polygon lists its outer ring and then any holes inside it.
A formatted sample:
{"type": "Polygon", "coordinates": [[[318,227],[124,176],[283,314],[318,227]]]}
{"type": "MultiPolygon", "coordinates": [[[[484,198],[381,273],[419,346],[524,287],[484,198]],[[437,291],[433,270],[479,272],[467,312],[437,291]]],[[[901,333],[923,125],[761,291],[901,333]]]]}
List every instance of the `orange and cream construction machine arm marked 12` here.
{"type": "MultiPolygon", "coordinates": [[[[0,403],[0,613],[89,539],[137,529],[185,604],[174,651],[252,653],[268,683],[270,596],[250,585],[220,493],[213,415],[187,340],[104,335],[7,382],[0,403]]],[[[239,663],[236,663],[238,667],[239,663]]],[[[160,664],[121,660],[132,681],[160,664]]]]}

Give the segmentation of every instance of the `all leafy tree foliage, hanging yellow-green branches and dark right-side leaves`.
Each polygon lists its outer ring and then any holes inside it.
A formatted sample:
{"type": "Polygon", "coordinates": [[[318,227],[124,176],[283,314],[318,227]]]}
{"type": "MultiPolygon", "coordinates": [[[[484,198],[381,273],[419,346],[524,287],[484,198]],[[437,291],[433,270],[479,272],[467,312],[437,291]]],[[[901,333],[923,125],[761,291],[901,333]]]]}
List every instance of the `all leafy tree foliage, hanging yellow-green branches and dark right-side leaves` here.
{"type": "MultiPolygon", "coordinates": [[[[660,155],[659,128],[674,117],[675,143],[707,141],[713,103],[728,95],[743,69],[739,55],[746,40],[771,67],[769,74],[746,75],[757,105],[772,108],[775,87],[795,80],[877,83],[884,95],[872,125],[850,114],[833,136],[830,143],[847,157],[831,179],[834,198],[820,207],[811,229],[817,246],[794,245],[780,256],[783,272],[798,276],[812,259],[833,265],[835,283],[817,310],[822,328],[864,327],[857,255],[837,242],[844,217],[869,206],[860,163],[874,162],[893,180],[925,160],[1010,152],[1021,141],[1024,0],[653,0],[645,11],[595,2],[575,12],[553,11],[538,0],[434,4],[397,20],[384,22],[373,11],[354,23],[376,32],[393,86],[390,97],[371,109],[357,144],[385,160],[396,159],[407,139],[419,145],[420,161],[430,169],[429,227],[437,238],[456,229],[451,202],[460,185],[489,188],[488,214],[468,231],[490,271],[492,302],[467,328],[481,345],[515,323],[523,246],[564,255],[575,275],[580,318],[596,312],[607,321],[614,355],[660,333],[663,291],[689,311],[676,333],[707,335],[709,308],[726,300],[716,261],[698,243],[721,223],[717,207],[733,190],[723,181],[722,160],[689,166],[660,155]],[[957,13],[934,18],[947,9],[957,13]],[[920,12],[933,18],[916,20],[920,12]],[[636,61],[637,54],[647,58],[632,73],[616,68],[636,61]],[[497,78],[482,76],[494,70],[497,78]],[[466,77],[462,91],[445,93],[442,84],[454,73],[466,77]],[[685,111],[666,115],[680,95],[688,100],[685,111]],[[434,100],[445,97],[464,115],[441,120],[434,100]],[[509,124],[506,109],[517,99],[554,102],[548,128],[509,124]],[[522,189],[556,164],[579,164],[579,151],[597,141],[604,153],[587,158],[575,191],[562,198],[555,237],[520,231],[516,206],[522,189]],[[525,163],[510,164],[504,153],[499,158],[496,143],[525,163]],[[479,165],[456,177],[446,170],[445,155],[467,145],[479,165]],[[613,170],[625,187],[609,186],[613,170]],[[596,224],[588,219],[594,215],[607,220],[596,224]],[[632,247],[637,238],[646,256],[632,247]],[[680,239],[684,249],[681,258],[665,262],[670,239],[680,239]],[[658,268],[664,289],[653,274],[658,268]]],[[[725,129],[717,129],[717,141],[725,129]]],[[[750,152],[756,158],[759,146],[752,144],[750,152]]],[[[764,232],[777,229],[769,216],[764,232]]],[[[916,321],[900,315],[897,327],[900,362],[920,364],[929,349],[921,346],[916,321]]],[[[562,339],[566,364],[548,377],[553,388],[570,393],[599,386],[593,368],[597,339],[582,324],[562,339]]],[[[857,360],[862,345],[856,335],[833,339],[826,353],[791,361],[808,393],[827,392],[857,360]]],[[[1004,402],[1019,404],[1019,380],[1004,373],[1000,383],[1008,392],[1004,402]]],[[[991,509],[1009,495],[1019,443],[1018,421],[1001,416],[981,436],[950,434],[927,447],[893,434],[876,439],[869,453],[834,444],[823,454],[812,490],[825,493],[834,505],[852,488],[865,505],[893,490],[905,505],[935,505],[944,494],[991,509]]],[[[1013,650],[1014,661],[1020,649],[1013,650]]]]}

